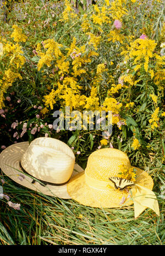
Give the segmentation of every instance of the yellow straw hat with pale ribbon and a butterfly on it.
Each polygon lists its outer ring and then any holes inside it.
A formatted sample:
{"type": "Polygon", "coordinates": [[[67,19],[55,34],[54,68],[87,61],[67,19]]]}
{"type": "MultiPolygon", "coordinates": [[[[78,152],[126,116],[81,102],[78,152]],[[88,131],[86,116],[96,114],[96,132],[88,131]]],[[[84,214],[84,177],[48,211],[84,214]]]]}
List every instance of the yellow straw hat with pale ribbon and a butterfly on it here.
{"type": "Polygon", "coordinates": [[[85,171],[71,178],[67,186],[70,197],[86,206],[118,208],[134,203],[135,217],[147,207],[160,214],[152,188],[153,180],[147,172],[132,167],[124,152],[109,148],[93,152],[85,171]],[[120,178],[121,173],[130,173],[134,177],[134,172],[135,182],[120,178]],[[116,189],[119,183],[120,188],[116,189]],[[124,188],[125,184],[128,186],[124,188]]]}

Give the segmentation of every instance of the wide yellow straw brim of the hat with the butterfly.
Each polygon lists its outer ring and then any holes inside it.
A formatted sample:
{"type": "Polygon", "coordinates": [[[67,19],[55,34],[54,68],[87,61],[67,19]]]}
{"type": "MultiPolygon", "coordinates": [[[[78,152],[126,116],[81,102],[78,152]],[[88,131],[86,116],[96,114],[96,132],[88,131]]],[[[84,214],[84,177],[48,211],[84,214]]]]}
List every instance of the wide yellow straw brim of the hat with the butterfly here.
{"type": "MultiPolygon", "coordinates": [[[[152,190],[153,180],[147,172],[134,167],[136,169],[136,182],[146,188],[152,190]]],[[[129,197],[129,193],[125,190],[111,189],[97,189],[90,187],[85,182],[85,172],[78,173],[68,182],[68,194],[72,199],[85,206],[97,208],[119,208],[121,206],[128,206],[133,204],[133,200],[129,197]]]]}

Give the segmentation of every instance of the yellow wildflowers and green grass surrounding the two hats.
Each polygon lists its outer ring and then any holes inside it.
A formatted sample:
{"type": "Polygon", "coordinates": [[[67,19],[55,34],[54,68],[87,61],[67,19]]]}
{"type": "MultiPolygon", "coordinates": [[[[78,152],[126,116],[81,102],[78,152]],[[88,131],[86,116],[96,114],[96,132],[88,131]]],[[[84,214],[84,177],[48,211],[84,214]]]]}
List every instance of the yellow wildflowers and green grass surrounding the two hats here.
{"type": "Polygon", "coordinates": [[[85,207],[32,192],[1,172],[0,243],[165,244],[163,1],[0,6],[0,150],[52,137],[67,143],[83,168],[97,149],[122,150],[152,176],[161,212],[146,209],[134,219],[133,206],[85,207]],[[112,111],[112,134],[54,130],[53,112],[66,106],[112,111]]]}

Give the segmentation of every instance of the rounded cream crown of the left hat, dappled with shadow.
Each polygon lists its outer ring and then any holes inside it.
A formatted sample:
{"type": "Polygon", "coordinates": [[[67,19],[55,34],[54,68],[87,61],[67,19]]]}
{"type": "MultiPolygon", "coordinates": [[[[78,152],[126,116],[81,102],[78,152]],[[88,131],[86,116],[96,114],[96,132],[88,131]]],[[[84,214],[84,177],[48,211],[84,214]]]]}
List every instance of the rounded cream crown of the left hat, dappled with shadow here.
{"type": "Polygon", "coordinates": [[[58,184],[68,181],[74,162],[74,153],[67,144],[45,137],[33,140],[21,158],[21,165],[29,175],[58,184]]]}

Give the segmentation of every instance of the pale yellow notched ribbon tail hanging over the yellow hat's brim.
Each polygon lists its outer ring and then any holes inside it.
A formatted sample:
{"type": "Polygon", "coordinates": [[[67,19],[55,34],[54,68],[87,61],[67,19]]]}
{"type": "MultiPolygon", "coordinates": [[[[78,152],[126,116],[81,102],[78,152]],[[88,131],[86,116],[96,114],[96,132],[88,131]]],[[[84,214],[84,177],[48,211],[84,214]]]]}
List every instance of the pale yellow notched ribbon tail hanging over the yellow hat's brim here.
{"type": "Polygon", "coordinates": [[[160,216],[160,209],[155,193],[139,184],[131,189],[132,198],[134,201],[134,216],[138,217],[147,207],[151,208],[160,216]]]}

